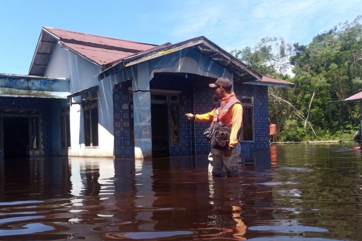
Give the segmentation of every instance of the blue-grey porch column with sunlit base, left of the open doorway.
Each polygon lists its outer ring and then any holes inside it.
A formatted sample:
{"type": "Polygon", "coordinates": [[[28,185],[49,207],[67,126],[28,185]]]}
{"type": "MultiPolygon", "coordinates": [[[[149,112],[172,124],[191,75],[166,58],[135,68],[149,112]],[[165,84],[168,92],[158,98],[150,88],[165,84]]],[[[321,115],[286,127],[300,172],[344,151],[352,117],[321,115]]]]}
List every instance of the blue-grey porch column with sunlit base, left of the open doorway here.
{"type": "Polygon", "coordinates": [[[152,158],[151,93],[148,63],[140,64],[132,79],[135,159],[152,158]]]}

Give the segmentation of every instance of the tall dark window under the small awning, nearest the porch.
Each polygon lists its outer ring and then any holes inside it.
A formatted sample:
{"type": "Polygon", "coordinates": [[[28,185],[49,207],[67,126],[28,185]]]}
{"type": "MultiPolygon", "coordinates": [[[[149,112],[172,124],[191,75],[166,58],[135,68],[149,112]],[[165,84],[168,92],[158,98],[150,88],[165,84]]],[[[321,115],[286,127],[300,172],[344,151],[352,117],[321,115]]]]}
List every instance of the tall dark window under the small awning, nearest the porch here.
{"type": "Polygon", "coordinates": [[[83,100],[84,145],[98,146],[98,101],[83,100]]]}

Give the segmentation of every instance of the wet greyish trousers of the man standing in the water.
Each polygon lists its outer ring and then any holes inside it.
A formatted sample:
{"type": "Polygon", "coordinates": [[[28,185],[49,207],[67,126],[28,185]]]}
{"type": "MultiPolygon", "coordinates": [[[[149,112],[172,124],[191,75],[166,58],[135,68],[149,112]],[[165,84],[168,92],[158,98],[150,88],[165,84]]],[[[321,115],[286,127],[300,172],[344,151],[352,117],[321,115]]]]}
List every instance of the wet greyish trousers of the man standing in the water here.
{"type": "Polygon", "coordinates": [[[237,176],[239,175],[238,159],[240,156],[240,143],[231,151],[231,156],[224,156],[224,151],[211,148],[209,154],[209,175],[237,176]]]}

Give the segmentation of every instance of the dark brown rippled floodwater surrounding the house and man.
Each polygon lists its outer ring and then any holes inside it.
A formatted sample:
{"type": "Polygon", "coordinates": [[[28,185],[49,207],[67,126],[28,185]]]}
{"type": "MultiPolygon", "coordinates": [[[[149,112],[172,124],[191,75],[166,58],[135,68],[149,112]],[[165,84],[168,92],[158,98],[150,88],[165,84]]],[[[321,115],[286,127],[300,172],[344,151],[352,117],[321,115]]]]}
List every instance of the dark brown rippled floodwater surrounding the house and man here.
{"type": "Polygon", "coordinates": [[[207,159],[0,161],[0,240],[362,240],[355,143],[277,145],[239,177],[207,159]]]}

